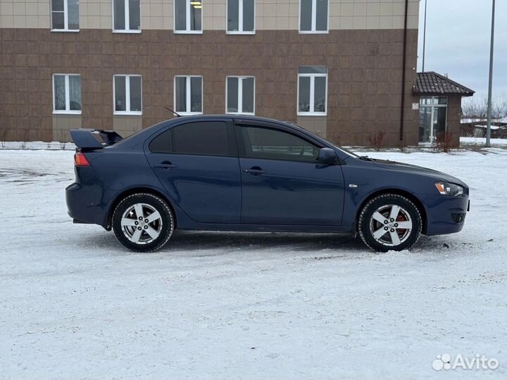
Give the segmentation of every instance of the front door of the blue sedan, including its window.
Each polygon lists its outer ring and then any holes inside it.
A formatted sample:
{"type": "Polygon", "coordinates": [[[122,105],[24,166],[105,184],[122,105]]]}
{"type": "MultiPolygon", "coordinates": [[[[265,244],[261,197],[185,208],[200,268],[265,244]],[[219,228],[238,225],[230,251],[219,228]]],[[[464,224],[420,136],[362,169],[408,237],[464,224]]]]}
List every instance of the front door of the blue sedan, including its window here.
{"type": "Polygon", "coordinates": [[[318,163],[320,146],[277,127],[238,126],[236,134],[242,223],[341,224],[342,167],[318,163]]]}

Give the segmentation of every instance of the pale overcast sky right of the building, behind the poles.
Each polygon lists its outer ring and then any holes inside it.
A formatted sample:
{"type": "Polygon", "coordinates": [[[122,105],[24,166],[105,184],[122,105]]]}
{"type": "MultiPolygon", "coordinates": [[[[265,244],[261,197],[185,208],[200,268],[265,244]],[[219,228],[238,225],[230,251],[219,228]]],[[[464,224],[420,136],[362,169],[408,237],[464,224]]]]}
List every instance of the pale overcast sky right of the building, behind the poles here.
{"type": "MultiPolygon", "coordinates": [[[[418,71],[423,65],[425,0],[420,0],[418,71]]],[[[507,0],[496,0],[493,95],[507,100],[507,0]]],[[[427,0],[425,71],[486,96],[492,0],[427,0]]]]}

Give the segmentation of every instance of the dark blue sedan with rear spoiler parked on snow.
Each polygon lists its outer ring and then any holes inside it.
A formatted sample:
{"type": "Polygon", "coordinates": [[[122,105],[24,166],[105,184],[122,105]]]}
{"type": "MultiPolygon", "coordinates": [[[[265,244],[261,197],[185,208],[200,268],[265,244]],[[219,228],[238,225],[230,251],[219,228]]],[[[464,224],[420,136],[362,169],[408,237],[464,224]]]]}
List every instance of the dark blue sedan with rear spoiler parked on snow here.
{"type": "Polygon", "coordinates": [[[401,251],[420,234],[461,231],[469,208],[456,177],[356,156],[288,122],[199,115],[125,139],[70,134],[70,217],[113,229],[131,251],[155,251],[175,229],[358,234],[401,251]]]}

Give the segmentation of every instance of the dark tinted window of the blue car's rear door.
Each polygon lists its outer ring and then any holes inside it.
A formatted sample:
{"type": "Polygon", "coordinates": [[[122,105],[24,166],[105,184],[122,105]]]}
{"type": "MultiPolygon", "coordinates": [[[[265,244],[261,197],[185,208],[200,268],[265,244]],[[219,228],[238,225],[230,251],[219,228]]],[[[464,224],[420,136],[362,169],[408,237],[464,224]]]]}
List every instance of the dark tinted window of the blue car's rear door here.
{"type": "Polygon", "coordinates": [[[150,151],[229,156],[227,125],[221,121],[189,122],[178,125],[151,141],[150,151]]]}

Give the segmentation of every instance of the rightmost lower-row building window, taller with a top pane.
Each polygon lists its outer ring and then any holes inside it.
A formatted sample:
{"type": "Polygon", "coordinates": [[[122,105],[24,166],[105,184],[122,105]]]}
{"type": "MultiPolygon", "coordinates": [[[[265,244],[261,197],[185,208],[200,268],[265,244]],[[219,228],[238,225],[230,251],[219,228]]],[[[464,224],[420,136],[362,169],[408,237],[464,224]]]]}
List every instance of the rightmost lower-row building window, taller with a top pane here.
{"type": "Polygon", "coordinates": [[[327,67],[299,67],[298,115],[326,115],[326,113],[327,67]]]}

